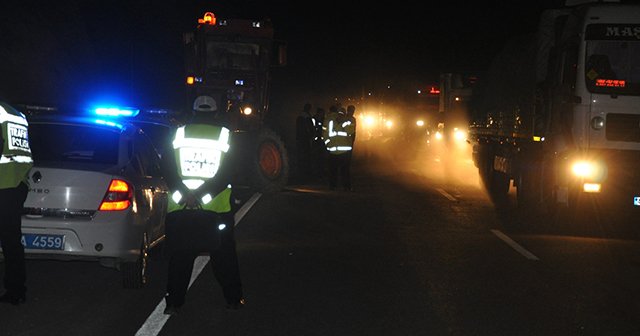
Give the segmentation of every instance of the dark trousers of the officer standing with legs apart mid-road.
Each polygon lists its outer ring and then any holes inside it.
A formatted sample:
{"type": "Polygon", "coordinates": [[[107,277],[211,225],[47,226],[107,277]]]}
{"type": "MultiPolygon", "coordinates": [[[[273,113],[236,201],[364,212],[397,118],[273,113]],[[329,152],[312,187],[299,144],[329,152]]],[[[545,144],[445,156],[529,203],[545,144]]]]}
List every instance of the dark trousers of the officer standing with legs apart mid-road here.
{"type": "MultiPolygon", "coordinates": [[[[219,249],[209,251],[209,263],[213,275],[222,287],[222,293],[227,303],[238,302],[242,297],[242,283],[236,254],[233,215],[225,216],[227,228],[223,231],[219,249]]],[[[211,225],[214,225],[212,223],[211,225]]],[[[167,283],[167,305],[180,307],[185,302],[185,296],[193,271],[193,262],[200,253],[191,251],[172,252],[169,261],[169,280],[167,283]]]]}

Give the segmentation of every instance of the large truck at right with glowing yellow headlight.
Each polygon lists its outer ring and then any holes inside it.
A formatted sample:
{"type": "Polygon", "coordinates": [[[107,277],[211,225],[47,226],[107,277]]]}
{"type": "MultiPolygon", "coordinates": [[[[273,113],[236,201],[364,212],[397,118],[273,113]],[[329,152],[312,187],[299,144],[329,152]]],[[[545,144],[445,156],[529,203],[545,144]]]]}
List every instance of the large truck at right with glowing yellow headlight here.
{"type": "Polygon", "coordinates": [[[610,1],[567,1],[507,43],[474,89],[469,127],[489,194],[504,200],[513,182],[519,212],[551,218],[638,212],[638,55],[640,6],[610,1]]]}

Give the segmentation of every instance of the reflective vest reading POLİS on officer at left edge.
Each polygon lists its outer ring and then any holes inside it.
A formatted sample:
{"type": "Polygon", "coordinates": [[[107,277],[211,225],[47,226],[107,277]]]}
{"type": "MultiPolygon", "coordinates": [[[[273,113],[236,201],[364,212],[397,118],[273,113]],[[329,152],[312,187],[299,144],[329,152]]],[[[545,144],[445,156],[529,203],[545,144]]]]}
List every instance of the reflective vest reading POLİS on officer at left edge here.
{"type": "Polygon", "coordinates": [[[28,128],[24,114],[8,105],[0,105],[0,189],[15,188],[20,182],[28,184],[29,170],[33,166],[28,128]]]}

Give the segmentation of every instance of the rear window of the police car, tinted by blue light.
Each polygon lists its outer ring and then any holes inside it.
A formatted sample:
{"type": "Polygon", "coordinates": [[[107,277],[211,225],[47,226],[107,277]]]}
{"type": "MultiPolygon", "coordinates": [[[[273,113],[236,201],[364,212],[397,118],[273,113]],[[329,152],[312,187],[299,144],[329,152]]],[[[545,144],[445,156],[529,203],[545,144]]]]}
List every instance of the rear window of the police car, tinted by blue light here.
{"type": "Polygon", "coordinates": [[[42,162],[118,163],[120,133],[81,125],[29,125],[29,144],[36,164],[42,162]]]}

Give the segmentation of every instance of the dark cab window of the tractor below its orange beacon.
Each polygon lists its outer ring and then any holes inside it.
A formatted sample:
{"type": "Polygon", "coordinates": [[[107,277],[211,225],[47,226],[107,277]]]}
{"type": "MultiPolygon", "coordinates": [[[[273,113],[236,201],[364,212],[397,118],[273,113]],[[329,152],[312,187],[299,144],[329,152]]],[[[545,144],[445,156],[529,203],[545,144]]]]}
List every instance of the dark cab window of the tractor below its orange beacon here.
{"type": "Polygon", "coordinates": [[[208,70],[255,70],[260,47],[250,43],[207,41],[208,70]]]}

